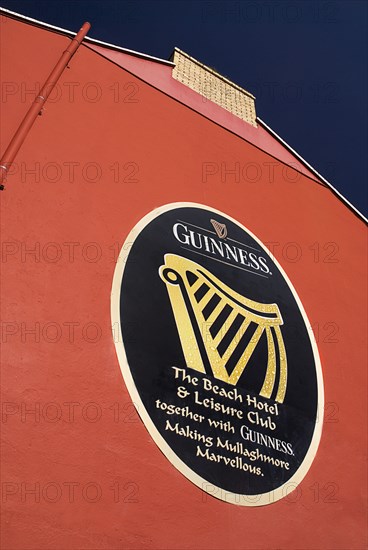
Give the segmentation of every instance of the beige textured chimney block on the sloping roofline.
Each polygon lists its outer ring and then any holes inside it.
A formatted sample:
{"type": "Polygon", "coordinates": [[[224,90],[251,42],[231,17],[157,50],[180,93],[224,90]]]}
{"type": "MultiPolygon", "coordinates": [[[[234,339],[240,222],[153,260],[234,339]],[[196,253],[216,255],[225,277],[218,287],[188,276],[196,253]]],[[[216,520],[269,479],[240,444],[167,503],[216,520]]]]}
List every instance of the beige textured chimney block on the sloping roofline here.
{"type": "Polygon", "coordinates": [[[255,97],[224,76],[175,48],[171,60],[175,63],[172,76],[252,126],[256,123],[255,97]]]}

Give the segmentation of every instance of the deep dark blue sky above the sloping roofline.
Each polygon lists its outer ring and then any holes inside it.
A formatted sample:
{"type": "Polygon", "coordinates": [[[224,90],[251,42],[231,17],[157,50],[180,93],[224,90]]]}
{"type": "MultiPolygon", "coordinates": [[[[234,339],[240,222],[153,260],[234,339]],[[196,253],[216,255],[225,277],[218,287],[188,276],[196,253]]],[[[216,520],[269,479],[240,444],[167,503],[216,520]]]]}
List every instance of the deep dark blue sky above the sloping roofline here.
{"type": "Polygon", "coordinates": [[[167,59],[174,46],[249,90],[257,115],[367,214],[364,0],[0,0],[1,7],[167,59]]]}

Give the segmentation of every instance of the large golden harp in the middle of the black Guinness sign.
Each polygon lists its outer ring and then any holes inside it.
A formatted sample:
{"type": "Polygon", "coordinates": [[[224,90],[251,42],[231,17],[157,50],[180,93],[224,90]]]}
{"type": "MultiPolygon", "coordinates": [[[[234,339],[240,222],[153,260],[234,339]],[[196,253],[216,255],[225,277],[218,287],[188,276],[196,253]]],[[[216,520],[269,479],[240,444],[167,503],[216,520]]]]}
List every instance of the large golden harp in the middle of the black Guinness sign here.
{"type": "Polygon", "coordinates": [[[278,370],[275,399],[282,403],[287,358],[277,304],[245,298],[204,267],[176,254],[165,254],[159,274],[166,284],[187,366],[207,374],[211,369],[215,378],[235,386],[265,333],[268,358],[259,394],[271,397],[278,370]]]}

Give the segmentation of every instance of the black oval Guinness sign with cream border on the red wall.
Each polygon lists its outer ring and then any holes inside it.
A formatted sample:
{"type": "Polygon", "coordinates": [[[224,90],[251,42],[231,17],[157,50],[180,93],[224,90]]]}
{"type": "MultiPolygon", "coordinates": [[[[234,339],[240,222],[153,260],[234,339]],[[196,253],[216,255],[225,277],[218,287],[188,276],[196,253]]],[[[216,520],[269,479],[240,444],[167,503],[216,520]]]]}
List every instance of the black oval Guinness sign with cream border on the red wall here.
{"type": "Polygon", "coordinates": [[[180,472],[248,506],[297,486],[321,435],[319,356],[292,284],[250,231],[199,204],[150,213],[122,248],[112,321],[132,401],[180,472]]]}

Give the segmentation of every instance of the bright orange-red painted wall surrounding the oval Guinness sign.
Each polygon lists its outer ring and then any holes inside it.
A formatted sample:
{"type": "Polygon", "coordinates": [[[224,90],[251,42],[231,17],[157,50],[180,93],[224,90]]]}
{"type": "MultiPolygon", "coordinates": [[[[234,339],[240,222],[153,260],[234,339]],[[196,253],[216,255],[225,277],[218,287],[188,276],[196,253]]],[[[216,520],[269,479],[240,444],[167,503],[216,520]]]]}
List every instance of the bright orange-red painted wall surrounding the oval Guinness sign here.
{"type": "MultiPolygon", "coordinates": [[[[25,86],[43,82],[69,39],[4,18],[1,34],[4,150],[32,101],[25,86]]],[[[364,224],[323,185],[89,48],[58,89],[1,193],[3,547],[363,548],[364,224]],[[236,163],[248,180],[226,173],[236,163]],[[217,172],[205,177],[206,167],[217,172]],[[226,504],[184,478],[121,376],[114,258],[139,219],[176,201],[278,243],[270,248],[319,329],[320,447],[298,489],[269,506],[226,504]]]]}

